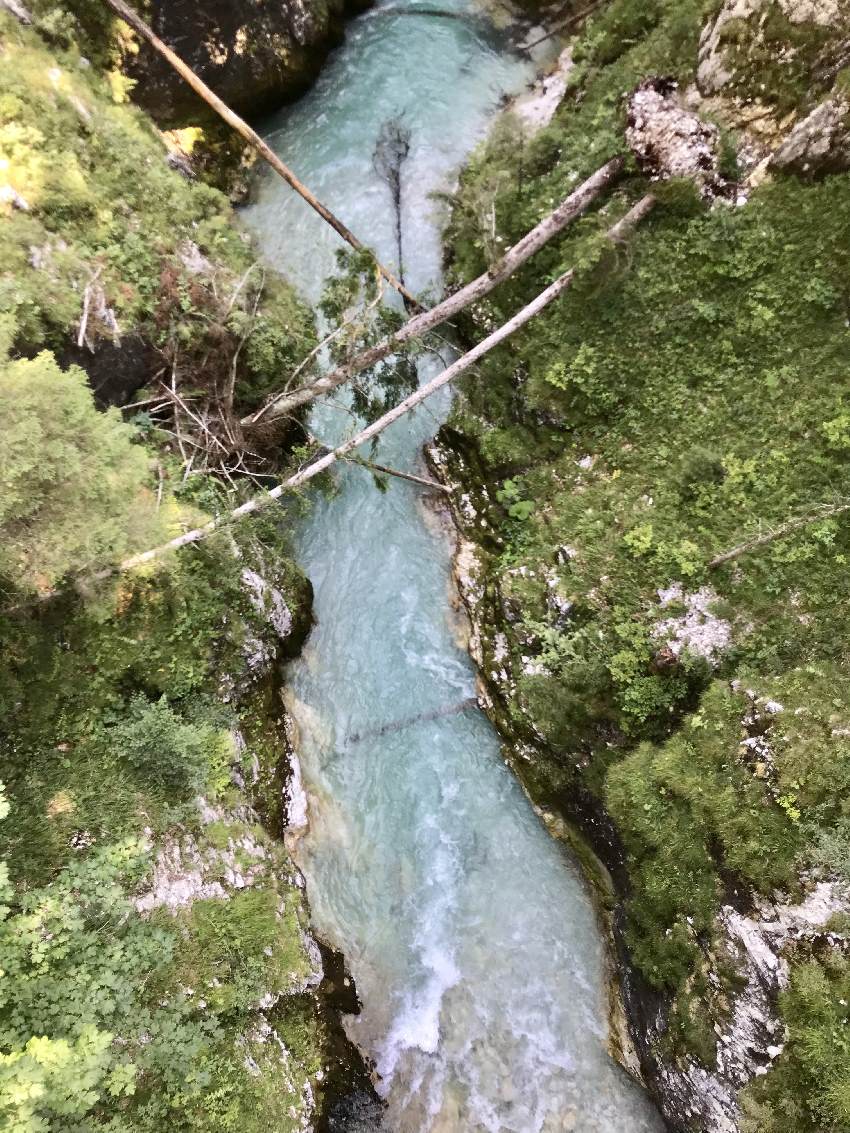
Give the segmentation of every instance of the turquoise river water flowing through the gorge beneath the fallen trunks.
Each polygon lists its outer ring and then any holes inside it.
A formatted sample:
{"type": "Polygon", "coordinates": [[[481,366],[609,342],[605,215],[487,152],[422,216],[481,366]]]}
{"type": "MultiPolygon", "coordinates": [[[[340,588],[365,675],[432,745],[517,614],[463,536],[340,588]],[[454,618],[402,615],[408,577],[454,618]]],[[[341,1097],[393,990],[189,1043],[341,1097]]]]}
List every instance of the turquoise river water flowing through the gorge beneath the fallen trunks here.
{"type": "MultiPolygon", "coordinates": [[[[462,0],[452,18],[391,0],[355,20],[315,88],[267,133],[314,191],[382,258],[396,236],[373,169],[402,116],[403,256],[414,290],[439,288],[439,215],[501,96],[530,77],[462,0]]],[[[315,298],[337,237],[282,182],[247,219],[270,262],[315,298]]],[[[439,363],[422,366],[422,376],[439,363]]],[[[448,397],[400,421],[377,460],[406,470],[448,397]]],[[[352,427],[323,407],[325,442],[352,427]]],[[[299,538],[317,625],[288,684],[309,826],[297,845],[317,930],[363,1000],[348,1030],[374,1059],[384,1128],[648,1133],[661,1123],[605,1050],[604,946],[578,868],[549,836],[468,701],[469,658],[449,605],[450,547],[422,492],[386,493],[357,467],[316,499],[299,538]]]]}

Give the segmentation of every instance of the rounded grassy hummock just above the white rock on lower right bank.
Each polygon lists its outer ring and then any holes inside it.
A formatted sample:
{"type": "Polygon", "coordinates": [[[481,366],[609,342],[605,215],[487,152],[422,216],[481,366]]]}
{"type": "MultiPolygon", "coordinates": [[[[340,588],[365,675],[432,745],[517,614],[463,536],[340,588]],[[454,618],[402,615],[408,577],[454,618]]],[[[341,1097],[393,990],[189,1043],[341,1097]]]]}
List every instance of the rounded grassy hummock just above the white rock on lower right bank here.
{"type": "MultiPolygon", "coordinates": [[[[664,744],[641,744],[607,773],[605,801],[629,852],[635,959],[678,989],[711,938],[720,870],[771,892],[794,875],[799,835],[745,761],[747,698],[716,682],[664,744]]],[[[783,769],[782,774],[787,774],[783,769]]]]}

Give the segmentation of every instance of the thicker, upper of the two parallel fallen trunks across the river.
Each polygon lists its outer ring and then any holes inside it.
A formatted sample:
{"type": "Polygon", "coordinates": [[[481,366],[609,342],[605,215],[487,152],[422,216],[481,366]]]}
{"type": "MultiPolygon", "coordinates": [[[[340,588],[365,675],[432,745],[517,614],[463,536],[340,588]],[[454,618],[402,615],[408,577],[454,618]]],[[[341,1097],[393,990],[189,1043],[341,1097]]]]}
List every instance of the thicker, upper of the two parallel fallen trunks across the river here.
{"type": "Polygon", "coordinates": [[[606,162],[601,169],[597,169],[595,173],[566,197],[553,213],[550,213],[530,232],[524,236],[518,244],[509,248],[490,271],[473,280],[471,283],[467,283],[466,287],[456,291],[454,295],[450,295],[448,299],[443,299],[442,303],[439,303],[430,310],[414,316],[400,330],[396,331],[394,334],[388,335],[367,350],[362,350],[349,361],[338,366],[337,369],[324,374],[315,382],[309,382],[297,390],[272,398],[262,409],[258,409],[249,417],[244,417],[241,421],[243,427],[249,429],[261,421],[270,421],[277,417],[284,417],[287,414],[291,414],[292,410],[308,404],[315,398],[331,393],[333,390],[339,389],[339,386],[345,385],[356,374],[368,369],[369,366],[374,366],[393,353],[406,342],[409,342],[411,339],[422,338],[442,323],[448,322],[470,304],[490,295],[491,291],[504,282],[522,264],[527,263],[536,252],[539,252],[545,244],[558,236],[559,232],[562,232],[571,221],[580,216],[595,197],[617,179],[622,168],[623,159],[612,157],[611,161],[606,162]]]}

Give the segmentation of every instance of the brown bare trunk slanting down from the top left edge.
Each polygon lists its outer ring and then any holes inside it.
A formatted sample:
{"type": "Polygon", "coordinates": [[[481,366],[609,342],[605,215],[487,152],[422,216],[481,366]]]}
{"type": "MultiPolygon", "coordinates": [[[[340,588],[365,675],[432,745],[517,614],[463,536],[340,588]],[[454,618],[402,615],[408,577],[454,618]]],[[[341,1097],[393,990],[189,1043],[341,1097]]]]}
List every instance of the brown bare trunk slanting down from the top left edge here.
{"type": "MultiPolygon", "coordinates": [[[[6,3],[7,0],[3,0],[3,2],[6,3]]],[[[240,134],[248,145],[256,150],[260,156],[272,167],[274,172],[282,177],[287,185],[295,189],[295,191],[307,202],[311,208],[317,212],[322,220],[326,221],[347,244],[349,244],[352,248],[356,248],[358,252],[365,249],[366,246],[357,239],[354,232],[347,228],[342,221],[331,212],[330,208],[323,205],[322,202],[311,193],[306,185],[298,180],[292,170],[289,169],[288,165],[283,164],[277,153],[269,145],[266,145],[256,130],[253,130],[243,118],[232,111],[230,107],[228,107],[228,104],[218,96],[218,94],[211,91],[206,83],[204,83],[202,78],[198,78],[192,68],[188,67],[167,43],[163,43],[153,28],[148,27],[148,25],[133,10],[133,8],[126,5],[124,0],[103,0],[103,2],[110,7],[117,16],[120,16],[125,24],[129,24],[134,32],[137,32],[144,40],[146,40],[154,51],[158,51],[163,59],[165,59],[167,62],[173,67],[177,74],[189,84],[192,90],[204,100],[207,107],[211,107],[220,118],[223,118],[228,126],[231,126],[237,134],[240,134]]],[[[416,298],[407,290],[400,280],[396,279],[389,267],[384,267],[383,264],[377,262],[376,266],[386,282],[394,288],[408,304],[410,304],[416,310],[422,309],[416,298]]]]}

